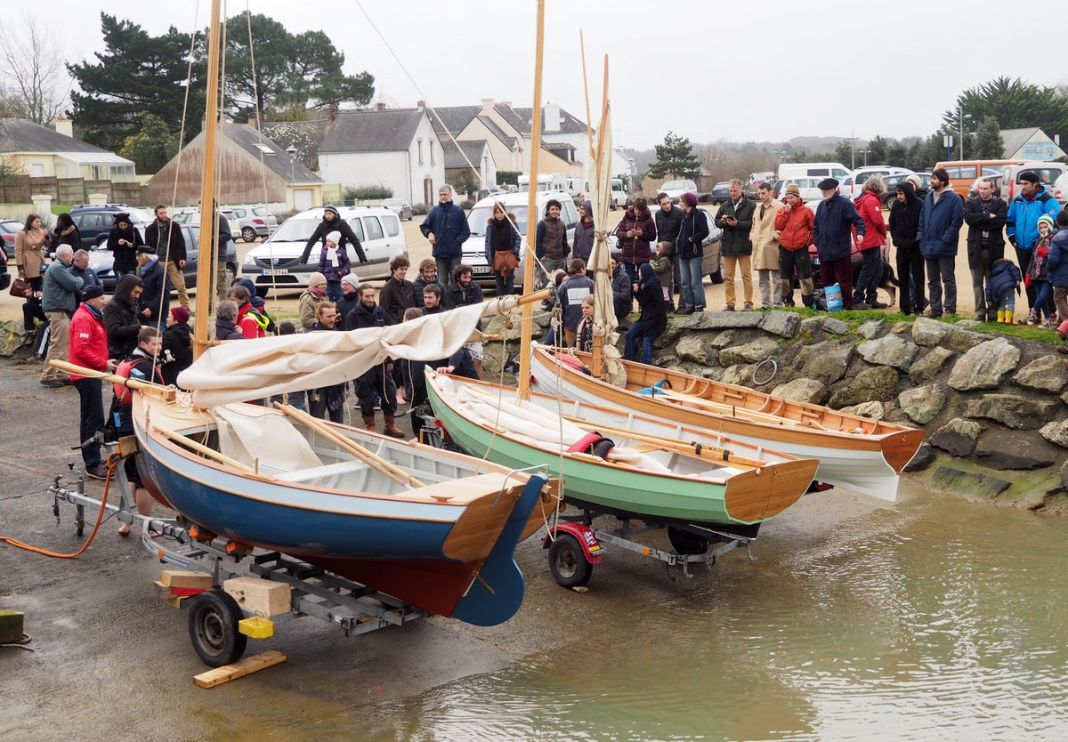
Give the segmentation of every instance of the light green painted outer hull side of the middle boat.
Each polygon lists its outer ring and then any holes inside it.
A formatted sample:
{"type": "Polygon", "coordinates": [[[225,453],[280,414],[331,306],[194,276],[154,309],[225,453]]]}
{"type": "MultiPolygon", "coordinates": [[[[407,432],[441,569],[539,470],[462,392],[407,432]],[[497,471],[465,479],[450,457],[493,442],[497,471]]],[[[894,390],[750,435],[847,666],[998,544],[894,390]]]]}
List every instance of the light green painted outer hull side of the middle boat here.
{"type": "Polygon", "coordinates": [[[552,451],[494,436],[453,410],[433,384],[428,383],[426,391],[435,414],[458,445],[506,467],[545,464],[554,476],[563,477],[565,494],[574,500],[607,510],[646,516],[650,520],[747,525],[757,522],[740,521],[727,514],[723,500],[726,485],[637,472],[575,458],[565,458],[561,471],[561,457],[552,451]]]}

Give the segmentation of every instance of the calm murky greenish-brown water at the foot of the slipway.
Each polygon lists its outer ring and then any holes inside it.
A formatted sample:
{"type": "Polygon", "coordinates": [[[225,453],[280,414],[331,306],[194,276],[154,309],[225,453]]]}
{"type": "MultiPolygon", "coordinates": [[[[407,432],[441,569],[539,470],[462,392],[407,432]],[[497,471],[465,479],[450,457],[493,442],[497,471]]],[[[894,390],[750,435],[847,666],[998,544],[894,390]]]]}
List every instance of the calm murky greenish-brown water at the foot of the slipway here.
{"type": "Polygon", "coordinates": [[[406,740],[1065,740],[1066,537],[921,495],[379,712],[406,740]]]}

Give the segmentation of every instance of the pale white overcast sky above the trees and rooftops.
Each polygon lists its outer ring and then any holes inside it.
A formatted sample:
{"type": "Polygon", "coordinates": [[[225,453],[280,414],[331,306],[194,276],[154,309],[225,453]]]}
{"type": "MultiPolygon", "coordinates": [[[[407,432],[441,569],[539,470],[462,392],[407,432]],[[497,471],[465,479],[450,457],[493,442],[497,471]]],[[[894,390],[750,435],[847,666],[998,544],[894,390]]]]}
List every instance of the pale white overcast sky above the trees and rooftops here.
{"type": "MultiPolygon", "coordinates": [[[[370,72],[376,97],[391,106],[413,106],[420,98],[433,106],[476,105],[484,97],[531,106],[533,0],[248,4],[292,32],[326,31],[345,53],[345,72],[370,72]]],[[[91,59],[104,46],[101,10],[158,34],[170,25],[187,32],[204,28],[210,2],[199,5],[195,20],[193,0],[40,0],[32,13],[62,34],[70,57],[91,59]]],[[[231,2],[227,15],[245,7],[231,2]]],[[[547,0],[543,101],[585,120],[581,28],[596,81],[592,97],[599,96],[601,60],[609,54],[617,145],[647,148],[668,129],[701,143],[850,131],[862,139],[926,136],[968,88],[1002,75],[1045,85],[1068,77],[1058,64],[1064,32],[1056,13],[1045,22],[1031,18],[1023,33],[1011,7],[1000,0],[547,0]],[[1026,52],[1017,53],[1017,44],[1026,52]]],[[[1043,7],[1052,12],[1056,4],[1043,7]]]]}

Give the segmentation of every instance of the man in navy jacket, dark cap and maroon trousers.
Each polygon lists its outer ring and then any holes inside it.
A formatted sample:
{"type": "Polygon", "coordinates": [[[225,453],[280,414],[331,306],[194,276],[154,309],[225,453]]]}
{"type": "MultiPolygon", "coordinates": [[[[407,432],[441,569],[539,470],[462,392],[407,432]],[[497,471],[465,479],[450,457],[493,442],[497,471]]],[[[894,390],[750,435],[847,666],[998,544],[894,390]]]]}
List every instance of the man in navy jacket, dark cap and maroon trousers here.
{"type": "Polygon", "coordinates": [[[838,193],[838,181],[824,178],[819,181],[823,200],[816,207],[812,227],[812,241],[819,255],[819,279],[823,287],[838,284],[842,305],[853,309],[853,233],[857,243],[864,241],[864,220],[857,212],[853,202],[838,193]]]}

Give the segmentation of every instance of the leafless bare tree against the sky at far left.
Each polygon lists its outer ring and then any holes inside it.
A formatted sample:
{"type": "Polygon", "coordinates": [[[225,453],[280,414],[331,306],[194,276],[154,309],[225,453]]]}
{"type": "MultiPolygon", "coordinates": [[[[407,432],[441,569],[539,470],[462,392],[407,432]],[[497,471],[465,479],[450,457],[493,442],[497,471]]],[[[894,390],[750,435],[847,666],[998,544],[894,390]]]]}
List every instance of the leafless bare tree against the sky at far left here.
{"type": "Polygon", "coordinates": [[[19,42],[0,47],[0,86],[5,108],[34,124],[50,124],[66,106],[70,93],[61,54],[63,45],[30,15],[23,15],[21,23],[9,30],[7,37],[19,42]]]}

